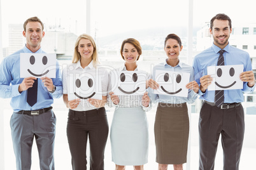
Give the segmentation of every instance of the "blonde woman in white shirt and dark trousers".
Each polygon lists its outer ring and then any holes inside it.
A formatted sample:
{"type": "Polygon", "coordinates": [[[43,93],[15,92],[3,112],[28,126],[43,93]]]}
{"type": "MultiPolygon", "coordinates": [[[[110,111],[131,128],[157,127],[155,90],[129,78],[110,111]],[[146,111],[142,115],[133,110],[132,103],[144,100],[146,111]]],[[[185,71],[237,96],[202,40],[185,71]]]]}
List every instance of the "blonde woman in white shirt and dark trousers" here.
{"type": "Polygon", "coordinates": [[[67,136],[74,170],[87,169],[87,139],[90,142],[90,169],[104,169],[104,149],[108,138],[108,120],[104,104],[107,98],[108,73],[98,69],[97,48],[91,36],[82,34],[75,43],[72,63],[63,70],[63,100],[69,108],[67,136]],[[73,70],[67,68],[72,67],[73,70]],[[83,98],[68,100],[67,77],[72,72],[96,72],[101,77],[102,100],[89,98],[89,104],[82,105],[83,98]]]}

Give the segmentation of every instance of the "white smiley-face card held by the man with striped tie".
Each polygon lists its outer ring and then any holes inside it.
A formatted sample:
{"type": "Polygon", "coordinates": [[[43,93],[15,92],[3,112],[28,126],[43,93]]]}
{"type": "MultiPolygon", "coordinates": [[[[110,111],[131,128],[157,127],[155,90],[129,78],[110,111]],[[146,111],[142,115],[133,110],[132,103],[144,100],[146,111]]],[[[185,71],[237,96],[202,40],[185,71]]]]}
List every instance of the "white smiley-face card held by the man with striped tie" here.
{"type": "Polygon", "coordinates": [[[243,72],[243,65],[209,66],[207,72],[213,78],[208,86],[209,91],[243,89],[243,81],[239,79],[239,74],[243,72]]]}

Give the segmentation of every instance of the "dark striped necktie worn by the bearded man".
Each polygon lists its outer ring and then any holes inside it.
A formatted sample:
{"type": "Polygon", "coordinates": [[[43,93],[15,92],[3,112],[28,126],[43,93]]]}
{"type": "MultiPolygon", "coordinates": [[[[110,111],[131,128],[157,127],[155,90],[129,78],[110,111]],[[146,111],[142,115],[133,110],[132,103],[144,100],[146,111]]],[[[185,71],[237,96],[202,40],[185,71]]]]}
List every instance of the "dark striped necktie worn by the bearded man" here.
{"type": "MultiPolygon", "coordinates": [[[[225,51],[223,49],[220,49],[218,53],[220,53],[220,56],[218,56],[218,65],[225,65],[224,63],[224,56],[223,53],[225,51]]],[[[214,98],[214,103],[217,105],[217,107],[220,107],[224,103],[224,90],[216,90],[215,91],[215,98],[214,98]]]]}

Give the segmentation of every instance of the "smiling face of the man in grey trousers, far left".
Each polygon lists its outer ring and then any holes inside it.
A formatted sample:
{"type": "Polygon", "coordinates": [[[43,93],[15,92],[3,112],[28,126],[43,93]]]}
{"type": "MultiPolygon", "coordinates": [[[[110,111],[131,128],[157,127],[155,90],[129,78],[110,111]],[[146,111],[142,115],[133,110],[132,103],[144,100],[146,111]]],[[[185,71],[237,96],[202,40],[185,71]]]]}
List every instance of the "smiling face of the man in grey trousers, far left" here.
{"type": "Polygon", "coordinates": [[[33,53],[38,51],[41,47],[40,43],[45,36],[45,32],[42,30],[42,25],[39,22],[28,22],[26,30],[23,31],[23,36],[26,38],[26,46],[33,53]]]}

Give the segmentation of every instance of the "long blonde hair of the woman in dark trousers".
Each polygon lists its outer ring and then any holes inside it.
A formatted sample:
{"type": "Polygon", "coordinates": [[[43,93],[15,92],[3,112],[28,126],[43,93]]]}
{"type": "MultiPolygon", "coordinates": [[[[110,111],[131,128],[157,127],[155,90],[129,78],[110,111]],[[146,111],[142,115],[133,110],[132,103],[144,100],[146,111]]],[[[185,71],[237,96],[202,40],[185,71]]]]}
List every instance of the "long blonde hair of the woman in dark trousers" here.
{"type": "Polygon", "coordinates": [[[76,39],[75,51],[74,51],[74,55],[73,55],[73,58],[72,58],[72,63],[77,63],[81,59],[81,55],[78,52],[78,45],[79,45],[79,41],[81,39],[88,39],[90,42],[92,42],[92,46],[94,46],[94,51],[93,51],[93,54],[92,54],[92,61],[93,61],[94,67],[96,67],[97,64],[99,63],[96,43],[95,43],[94,39],[91,36],[89,36],[88,34],[82,34],[82,35],[78,36],[78,38],[76,39]]]}

